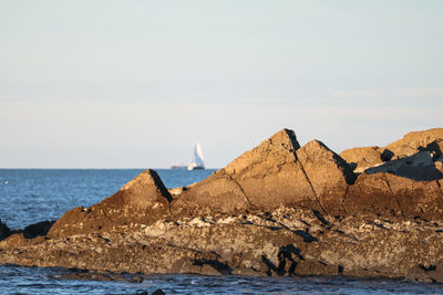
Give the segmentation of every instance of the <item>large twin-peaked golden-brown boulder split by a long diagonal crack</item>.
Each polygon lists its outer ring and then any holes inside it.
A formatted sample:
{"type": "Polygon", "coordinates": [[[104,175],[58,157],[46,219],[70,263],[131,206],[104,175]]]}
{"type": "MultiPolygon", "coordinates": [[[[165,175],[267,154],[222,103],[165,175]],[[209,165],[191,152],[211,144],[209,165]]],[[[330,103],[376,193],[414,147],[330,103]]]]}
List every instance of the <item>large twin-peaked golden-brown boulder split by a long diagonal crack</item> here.
{"type": "Polygon", "coordinates": [[[342,196],[353,180],[349,165],[322,143],[312,140],[300,148],[295,133],[282,129],[189,187],[173,208],[202,213],[297,203],[324,211],[321,200],[342,196]]]}

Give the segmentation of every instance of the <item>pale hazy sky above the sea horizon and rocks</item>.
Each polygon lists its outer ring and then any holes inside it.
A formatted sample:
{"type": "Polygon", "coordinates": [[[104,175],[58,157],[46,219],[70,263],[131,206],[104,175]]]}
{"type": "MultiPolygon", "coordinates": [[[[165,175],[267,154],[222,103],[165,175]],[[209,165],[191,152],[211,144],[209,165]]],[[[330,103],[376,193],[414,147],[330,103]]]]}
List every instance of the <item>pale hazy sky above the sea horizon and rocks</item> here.
{"type": "Polygon", "coordinates": [[[222,168],[443,127],[441,0],[0,0],[0,168],[222,168]]]}

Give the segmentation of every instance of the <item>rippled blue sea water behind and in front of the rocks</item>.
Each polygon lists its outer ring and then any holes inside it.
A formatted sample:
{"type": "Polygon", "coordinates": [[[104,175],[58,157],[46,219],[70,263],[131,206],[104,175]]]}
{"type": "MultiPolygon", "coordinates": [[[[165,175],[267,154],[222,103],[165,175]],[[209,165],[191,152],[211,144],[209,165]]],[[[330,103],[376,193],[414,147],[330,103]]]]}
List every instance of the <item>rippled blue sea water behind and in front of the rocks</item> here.
{"type": "MultiPolygon", "coordinates": [[[[115,193],[143,169],[0,169],[0,219],[10,229],[56,220],[115,193]]],[[[215,170],[157,169],[167,188],[215,170]]],[[[60,280],[72,270],[0,265],[0,294],[443,294],[442,284],[348,276],[142,275],[143,280],[60,280]]],[[[140,275],[138,275],[140,276],[140,275]]]]}

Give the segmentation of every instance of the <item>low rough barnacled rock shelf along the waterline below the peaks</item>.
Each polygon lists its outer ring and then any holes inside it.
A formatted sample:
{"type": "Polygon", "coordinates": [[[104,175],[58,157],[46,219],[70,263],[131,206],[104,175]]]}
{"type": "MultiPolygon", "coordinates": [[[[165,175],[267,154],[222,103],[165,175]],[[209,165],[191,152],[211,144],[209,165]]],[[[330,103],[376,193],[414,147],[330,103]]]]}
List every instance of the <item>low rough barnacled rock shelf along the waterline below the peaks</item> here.
{"type": "Polygon", "coordinates": [[[99,272],[344,274],[443,282],[442,234],[442,222],[372,214],[336,219],[285,207],[267,214],[159,220],[137,231],[79,234],[27,247],[12,241],[6,245],[6,240],[0,246],[2,263],[99,272]]]}

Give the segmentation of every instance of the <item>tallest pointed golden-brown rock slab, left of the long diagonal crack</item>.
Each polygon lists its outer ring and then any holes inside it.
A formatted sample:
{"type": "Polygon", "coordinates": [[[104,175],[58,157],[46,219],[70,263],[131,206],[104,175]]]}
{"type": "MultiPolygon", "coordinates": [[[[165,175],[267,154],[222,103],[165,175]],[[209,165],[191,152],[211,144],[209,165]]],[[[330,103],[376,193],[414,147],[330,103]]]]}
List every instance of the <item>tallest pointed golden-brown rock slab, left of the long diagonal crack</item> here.
{"type": "Polygon", "coordinates": [[[258,147],[244,152],[224,169],[188,188],[174,202],[174,210],[225,211],[276,208],[280,204],[315,202],[315,194],[300,169],[295,150],[300,145],[293,131],[282,129],[258,147]]]}

